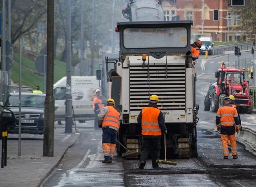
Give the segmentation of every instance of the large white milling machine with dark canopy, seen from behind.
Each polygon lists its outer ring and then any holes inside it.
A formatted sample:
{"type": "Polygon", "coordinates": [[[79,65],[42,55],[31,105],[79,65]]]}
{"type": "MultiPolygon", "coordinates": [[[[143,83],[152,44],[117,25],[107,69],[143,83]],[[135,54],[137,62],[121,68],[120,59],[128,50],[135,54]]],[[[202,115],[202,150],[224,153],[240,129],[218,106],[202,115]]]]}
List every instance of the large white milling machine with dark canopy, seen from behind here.
{"type": "MultiPolygon", "coordinates": [[[[137,117],[149,97],[159,97],[167,127],[167,157],[197,156],[196,68],[191,58],[192,21],[118,22],[119,62],[109,75],[109,97],[120,112],[118,139],[129,149],[142,143],[137,117]],[[143,55],[144,54],[144,55],[143,55]],[[145,58],[146,55],[146,58],[145,58]],[[144,56],[144,60],[143,57],[144,56]]],[[[161,139],[161,157],[164,143],[161,139]]],[[[121,146],[117,152],[126,152],[121,146]]]]}

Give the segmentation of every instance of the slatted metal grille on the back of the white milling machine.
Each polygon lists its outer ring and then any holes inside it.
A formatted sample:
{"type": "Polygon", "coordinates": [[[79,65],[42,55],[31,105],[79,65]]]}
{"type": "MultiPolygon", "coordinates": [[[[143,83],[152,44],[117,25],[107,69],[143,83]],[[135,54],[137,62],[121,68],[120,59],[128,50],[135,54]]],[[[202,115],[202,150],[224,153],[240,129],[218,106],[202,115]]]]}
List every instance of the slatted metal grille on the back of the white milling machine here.
{"type": "Polygon", "coordinates": [[[185,110],[185,65],[130,64],[130,109],[140,111],[149,95],[159,97],[158,108],[185,110]]]}

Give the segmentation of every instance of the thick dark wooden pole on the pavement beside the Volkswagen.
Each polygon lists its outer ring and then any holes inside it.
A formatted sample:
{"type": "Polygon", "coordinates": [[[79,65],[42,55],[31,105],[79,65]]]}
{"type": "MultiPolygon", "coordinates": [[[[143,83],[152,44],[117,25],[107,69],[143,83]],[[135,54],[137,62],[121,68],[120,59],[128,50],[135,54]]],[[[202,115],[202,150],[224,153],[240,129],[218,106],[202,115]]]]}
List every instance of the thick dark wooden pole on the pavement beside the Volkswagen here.
{"type": "Polygon", "coordinates": [[[47,77],[44,118],[43,156],[54,153],[54,0],[47,0],[47,77]]]}

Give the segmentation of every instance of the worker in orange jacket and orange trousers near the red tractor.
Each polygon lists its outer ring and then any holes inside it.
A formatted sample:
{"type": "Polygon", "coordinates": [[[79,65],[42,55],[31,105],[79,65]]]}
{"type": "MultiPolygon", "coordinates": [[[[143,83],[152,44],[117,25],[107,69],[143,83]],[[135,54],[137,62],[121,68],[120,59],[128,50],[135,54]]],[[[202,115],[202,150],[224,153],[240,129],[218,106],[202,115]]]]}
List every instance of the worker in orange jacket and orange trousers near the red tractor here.
{"type": "Polygon", "coordinates": [[[224,104],[219,107],[216,115],[217,131],[220,131],[224,159],[228,159],[228,140],[230,140],[233,159],[237,159],[235,132],[239,132],[240,123],[237,110],[230,104],[230,98],[224,98],[224,104]],[[235,128],[236,127],[236,128],[235,128]]]}

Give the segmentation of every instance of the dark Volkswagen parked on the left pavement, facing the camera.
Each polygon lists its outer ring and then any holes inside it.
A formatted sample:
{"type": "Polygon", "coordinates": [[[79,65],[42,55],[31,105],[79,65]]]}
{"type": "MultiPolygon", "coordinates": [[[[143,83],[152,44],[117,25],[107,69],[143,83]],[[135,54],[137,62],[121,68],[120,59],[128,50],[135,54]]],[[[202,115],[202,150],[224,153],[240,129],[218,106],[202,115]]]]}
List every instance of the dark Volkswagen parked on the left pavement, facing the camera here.
{"type": "Polygon", "coordinates": [[[21,93],[21,116],[19,117],[19,93],[10,93],[2,107],[0,131],[7,122],[7,132],[19,133],[19,118],[21,133],[43,134],[44,132],[44,102],[45,94],[21,93]]]}

